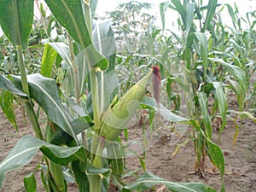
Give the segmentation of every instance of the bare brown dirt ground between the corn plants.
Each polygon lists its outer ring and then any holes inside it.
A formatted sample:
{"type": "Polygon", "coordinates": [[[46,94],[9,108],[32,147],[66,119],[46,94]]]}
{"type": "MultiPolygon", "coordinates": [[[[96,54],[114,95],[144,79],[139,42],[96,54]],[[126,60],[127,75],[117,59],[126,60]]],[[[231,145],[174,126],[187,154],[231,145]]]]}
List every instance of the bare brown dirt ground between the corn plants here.
{"type": "MultiPolygon", "coordinates": [[[[20,108],[16,108],[15,112],[20,132],[14,130],[0,110],[0,161],[3,160],[20,137],[32,134],[32,126],[28,120],[24,119],[20,108]]],[[[45,122],[46,119],[43,118],[40,124],[44,125],[45,122]]],[[[256,191],[256,125],[249,119],[245,119],[242,124],[243,127],[240,129],[236,145],[232,144],[235,128],[231,121],[228,122],[224,129],[219,143],[224,152],[224,182],[227,192],[256,191]]],[[[213,132],[214,137],[218,137],[218,131],[214,130],[213,132]]],[[[184,136],[179,143],[183,143],[186,138],[187,136],[184,136]]],[[[192,174],[195,164],[193,143],[188,143],[180,149],[176,156],[172,157],[175,147],[169,143],[170,141],[172,142],[172,137],[162,137],[158,143],[148,149],[145,159],[147,171],[173,182],[207,183],[219,191],[221,179],[218,172],[212,172],[211,164],[207,167],[205,178],[192,174]]],[[[2,191],[25,191],[23,177],[32,172],[38,163],[40,163],[40,154],[27,166],[15,172],[8,172],[3,181],[2,191]]],[[[136,158],[130,158],[127,160],[127,167],[131,170],[136,170],[140,168],[140,162],[136,158]]],[[[40,172],[37,172],[36,175],[38,178],[37,191],[43,192],[45,190],[40,181],[40,172]]],[[[126,179],[131,180],[132,178],[128,177],[126,179]]],[[[70,184],[69,191],[75,192],[78,189],[73,184],[70,184]]]]}

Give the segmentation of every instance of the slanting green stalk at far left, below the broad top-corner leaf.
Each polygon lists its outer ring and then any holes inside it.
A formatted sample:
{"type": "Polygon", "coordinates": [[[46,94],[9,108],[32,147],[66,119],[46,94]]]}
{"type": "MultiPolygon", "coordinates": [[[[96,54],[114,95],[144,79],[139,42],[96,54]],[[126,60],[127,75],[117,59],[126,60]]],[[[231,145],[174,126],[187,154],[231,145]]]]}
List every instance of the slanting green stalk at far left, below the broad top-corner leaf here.
{"type": "Polygon", "coordinates": [[[40,129],[40,126],[38,124],[37,116],[32,108],[32,104],[31,104],[31,97],[30,97],[29,87],[28,87],[28,83],[27,83],[27,79],[26,79],[26,69],[25,69],[25,63],[23,60],[23,53],[22,53],[21,45],[17,45],[16,48],[17,48],[17,55],[18,55],[18,63],[19,63],[19,67],[20,67],[22,89],[29,98],[28,101],[25,101],[26,113],[28,114],[29,118],[32,121],[32,126],[35,131],[36,137],[43,140],[44,137],[43,137],[42,131],[40,129]]]}

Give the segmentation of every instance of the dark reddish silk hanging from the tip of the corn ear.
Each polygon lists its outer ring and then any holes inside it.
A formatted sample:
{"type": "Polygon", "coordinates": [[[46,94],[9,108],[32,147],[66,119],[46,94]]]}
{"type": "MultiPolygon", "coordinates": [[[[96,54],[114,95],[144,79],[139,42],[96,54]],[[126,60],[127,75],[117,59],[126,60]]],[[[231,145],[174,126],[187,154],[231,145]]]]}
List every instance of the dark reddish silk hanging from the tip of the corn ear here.
{"type": "Polygon", "coordinates": [[[153,70],[153,77],[152,77],[152,84],[154,90],[154,99],[157,103],[157,107],[159,108],[160,105],[160,85],[161,85],[161,77],[160,77],[160,68],[159,66],[152,66],[153,70]]]}

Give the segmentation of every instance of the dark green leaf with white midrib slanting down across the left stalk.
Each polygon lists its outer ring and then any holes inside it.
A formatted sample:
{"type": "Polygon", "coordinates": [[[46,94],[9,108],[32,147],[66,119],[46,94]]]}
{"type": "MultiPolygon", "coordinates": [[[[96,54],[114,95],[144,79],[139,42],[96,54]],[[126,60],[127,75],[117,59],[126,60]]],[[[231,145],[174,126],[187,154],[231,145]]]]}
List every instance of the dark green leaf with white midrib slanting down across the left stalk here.
{"type": "MultiPolygon", "coordinates": [[[[20,78],[14,76],[14,79],[20,82],[20,78]]],[[[66,131],[78,143],[71,124],[72,119],[70,119],[62,106],[55,79],[44,78],[40,74],[32,74],[27,76],[27,80],[32,98],[38,102],[41,108],[44,108],[49,120],[59,125],[63,131],[66,131]]]]}

